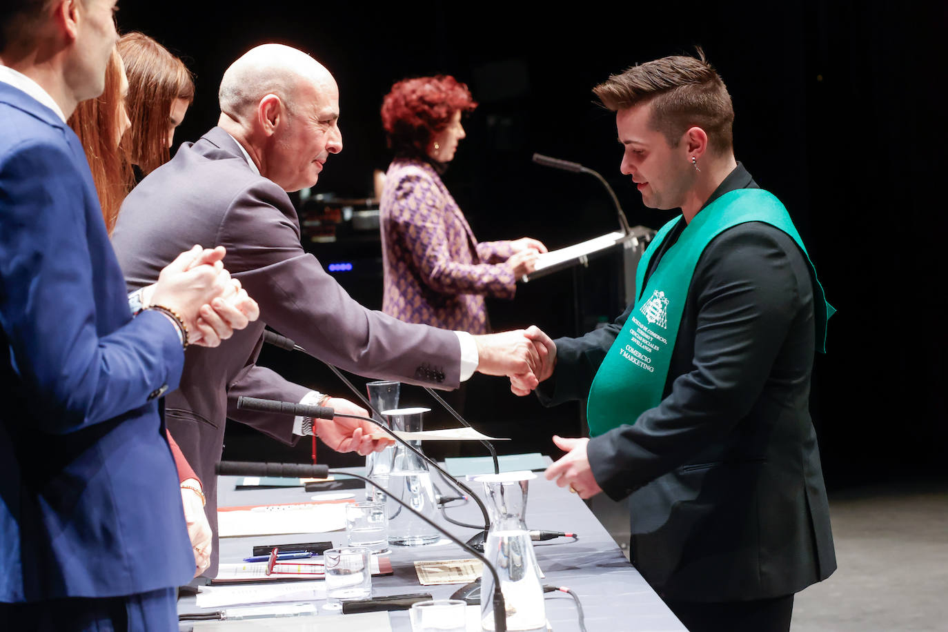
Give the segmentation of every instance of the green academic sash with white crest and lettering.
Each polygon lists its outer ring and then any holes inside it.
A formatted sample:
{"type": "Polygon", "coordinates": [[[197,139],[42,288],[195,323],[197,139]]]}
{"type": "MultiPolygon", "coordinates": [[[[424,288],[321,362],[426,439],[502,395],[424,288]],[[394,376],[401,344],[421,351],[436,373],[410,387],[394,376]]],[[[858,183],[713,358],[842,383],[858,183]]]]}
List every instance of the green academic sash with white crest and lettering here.
{"type": "Polygon", "coordinates": [[[639,291],[635,306],[622,331],[593,378],[586,417],[595,437],[621,424],[634,424],[639,415],[658,406],[665,391],[671,353],[682,322],[684,303],[695,265],[721,232],[746,222],[764,222],[793,238],[810,263],[813,274],[816,340],[826,350],[827,319],[835,310],[826,302],[823,287],[800,240],[790,214],[773,193],[762,189],[728,191],[695,215],[684,227],[678,242],[665,252],[655,272],[643,287],[648,262],[679,222],[680,216],[662,226],[648,245],[635,275],[639,291]]]}

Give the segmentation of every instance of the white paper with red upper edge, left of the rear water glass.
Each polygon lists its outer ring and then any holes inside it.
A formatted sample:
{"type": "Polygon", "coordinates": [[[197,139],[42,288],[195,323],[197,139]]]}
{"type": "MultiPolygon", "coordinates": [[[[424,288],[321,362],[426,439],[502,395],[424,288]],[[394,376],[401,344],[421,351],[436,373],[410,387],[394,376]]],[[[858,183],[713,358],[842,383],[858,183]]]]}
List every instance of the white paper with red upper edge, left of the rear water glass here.
{"type": "Polygon", "coordinates": [[[295,503],[217,512],[221,537],[321,533],[346,528],[346,504],[295,503]]]}

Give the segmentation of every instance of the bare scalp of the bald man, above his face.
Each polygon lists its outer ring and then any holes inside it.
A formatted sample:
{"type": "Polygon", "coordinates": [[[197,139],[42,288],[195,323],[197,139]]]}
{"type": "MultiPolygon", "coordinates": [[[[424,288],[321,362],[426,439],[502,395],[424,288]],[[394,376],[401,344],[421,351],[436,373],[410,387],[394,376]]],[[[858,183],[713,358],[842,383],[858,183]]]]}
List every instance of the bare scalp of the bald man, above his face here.
{"type": "Polygon", "coordinates": [[[315,59],[296,48],[264,44],[251,48],[231,63],[218,91],[221,112],[238,121],[254,117],[266,95],[276,95],[291,112],[302,93],[336,90],[336,81],[315,59]]]}

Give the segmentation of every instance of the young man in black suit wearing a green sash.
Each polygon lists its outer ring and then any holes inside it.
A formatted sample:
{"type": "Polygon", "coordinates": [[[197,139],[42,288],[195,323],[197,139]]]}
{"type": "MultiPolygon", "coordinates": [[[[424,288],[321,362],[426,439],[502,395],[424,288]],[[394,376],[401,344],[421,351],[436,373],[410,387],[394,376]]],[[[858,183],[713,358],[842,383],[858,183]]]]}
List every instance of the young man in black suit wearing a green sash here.
{"type": "Polygon", "coordinates": [[[836,568],[809,412],[833,310],[787,209],[735,160],[731,98],[703,54],[594,92],[645,205],[682,214],[614,323],[531,333],[543,404],[589,398],[592,438],[555,437],[568,453],[546,477],[629,497],[632,562],[689,630],[786,632],[793,594],[836,568]]]}

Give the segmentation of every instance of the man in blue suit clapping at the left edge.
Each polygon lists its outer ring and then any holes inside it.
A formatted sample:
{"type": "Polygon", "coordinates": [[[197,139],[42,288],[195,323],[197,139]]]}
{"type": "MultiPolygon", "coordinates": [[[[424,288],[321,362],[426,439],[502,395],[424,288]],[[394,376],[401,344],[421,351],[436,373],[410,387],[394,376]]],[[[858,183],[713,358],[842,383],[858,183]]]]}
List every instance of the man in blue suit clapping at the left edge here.
{"type": "Polygon", "coordinates": [[[0,5],[5,629],[177,630],[173,587],[191,579],[194,558],[157,398],[177,388],[189,333],[214,344],[209,323],[228,337],[256,317],[255,305],[234,316],[221,302],[242,294],[223,249],[195,246],[133,319],[64,122],[102,91],[115,4],[0,5]]]}

